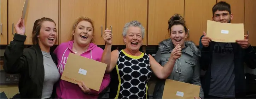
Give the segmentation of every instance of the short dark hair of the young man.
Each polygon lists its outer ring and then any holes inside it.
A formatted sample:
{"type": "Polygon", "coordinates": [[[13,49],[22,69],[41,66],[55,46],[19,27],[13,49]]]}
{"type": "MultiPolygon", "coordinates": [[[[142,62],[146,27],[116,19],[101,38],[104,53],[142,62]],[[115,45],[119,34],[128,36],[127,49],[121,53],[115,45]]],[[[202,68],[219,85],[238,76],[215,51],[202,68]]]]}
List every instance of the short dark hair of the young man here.
{"type": "Polygon", "coordinates": [[[230,7],[230,4],[228,4],[227,2],[225,1],[220,1],[218,3],[216,3],[213,8],[213,16],[214,16],[214,13],[219,10],[219,11],[228,11],[229,14],[231,14],[231,7],[230,7]]]}

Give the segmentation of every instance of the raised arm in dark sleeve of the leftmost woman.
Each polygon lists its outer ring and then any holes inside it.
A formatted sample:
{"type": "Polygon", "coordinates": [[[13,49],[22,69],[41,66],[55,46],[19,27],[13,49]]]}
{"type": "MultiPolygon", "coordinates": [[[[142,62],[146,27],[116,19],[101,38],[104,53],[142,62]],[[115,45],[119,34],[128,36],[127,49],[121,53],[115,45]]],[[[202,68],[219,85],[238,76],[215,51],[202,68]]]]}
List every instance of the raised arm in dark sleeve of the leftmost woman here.
{"type": "Polygon", "coordinates": [[[6,47],[4,53],[4,70],[10,74],[17,74],[25,70],[26,57],[23,55],[24,42],[27,38],[25,34],[24,20],[20,19],[15,25],[16,34],[14,34],[13,41],[6,47]]]}

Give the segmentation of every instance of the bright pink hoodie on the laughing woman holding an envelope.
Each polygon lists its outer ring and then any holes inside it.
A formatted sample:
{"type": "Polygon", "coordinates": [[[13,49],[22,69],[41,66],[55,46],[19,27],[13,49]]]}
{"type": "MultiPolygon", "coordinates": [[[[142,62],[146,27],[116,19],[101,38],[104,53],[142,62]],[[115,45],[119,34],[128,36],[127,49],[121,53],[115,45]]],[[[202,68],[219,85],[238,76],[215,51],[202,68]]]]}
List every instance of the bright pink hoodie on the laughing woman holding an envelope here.
{"type": "MultiPolygon", "coordinates": [[[[68,59],[69,53],[72,52],[74,41],[69,41],[60,44],[55,50],[54,53],[57,55],[58,58],[58,70],[60,75],[62,75],[62,72],[65,68],[66,61],[68,59]]],[[[80,56],[91,58],[93,60],[97,60],[101,62],[101,56],[102,56],[103,50],[95,45],[94,43],[90,43],[88,50],[84,53],[82,53],[80,56]]],[[[110,83],[110,75],[105,74],[100,86],[100,90],[95,91],[91,89],[90,94],[85,94],[82,92],[82,90],[79,88],[78,85],[74,83],[70,83],[64,80],[60,80],[59,84],[57,84],[56,87],[56,94],[57,96],[55,98],[65,98],[65,99],[74,99],[74,98],[83,98],[83,99],[89,99],[89,98],[98,98],[98,95],[103,89],[105,89],[110,83]]]]}

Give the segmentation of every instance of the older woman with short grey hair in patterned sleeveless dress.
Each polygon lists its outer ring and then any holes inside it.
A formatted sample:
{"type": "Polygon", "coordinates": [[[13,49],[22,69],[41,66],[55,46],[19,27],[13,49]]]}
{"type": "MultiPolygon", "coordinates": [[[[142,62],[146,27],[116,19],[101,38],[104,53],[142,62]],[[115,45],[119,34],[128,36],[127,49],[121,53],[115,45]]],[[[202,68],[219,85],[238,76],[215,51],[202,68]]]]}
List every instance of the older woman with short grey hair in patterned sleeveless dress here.
{"type": "Polygon", "coordinates": [[[124,50],[111,52],[111,30],[104,31],[103,39],[106,46],[101,62],[107,64],[106,73],[111,72],[110,98],[148,98],[147,82],[152,71],[158,78],[165,79],[171,74],[175,61],[181,55],[181,46],[176,46],[169,61],[161,66],[147,53],[140,52],[145,29],[138,21],[124,25],[124,50]]]}

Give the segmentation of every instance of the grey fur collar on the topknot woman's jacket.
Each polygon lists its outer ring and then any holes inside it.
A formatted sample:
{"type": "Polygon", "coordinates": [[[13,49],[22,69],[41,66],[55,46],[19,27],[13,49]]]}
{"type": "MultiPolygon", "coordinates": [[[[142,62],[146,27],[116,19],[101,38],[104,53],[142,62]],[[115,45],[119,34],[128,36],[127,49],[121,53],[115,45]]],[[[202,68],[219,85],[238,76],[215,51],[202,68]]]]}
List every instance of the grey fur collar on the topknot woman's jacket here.
{"type": "MultiPolygon", "coordinates": [[[[193,54],[196,54],[196,56],[201,57],[200,50],[196,47],[194,42],[192,41],[185,41],[185,46],[190,47],[193,54]]],[[[174,48],[174,44],[171,41],[171,39],[165,39],[162,42],[159,43],[159,50],[161,53],[170,53],[174,48]]],[[[186,48],[187,49],[187,48],[186,48]]]]}

